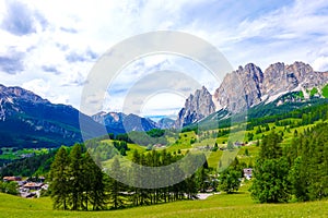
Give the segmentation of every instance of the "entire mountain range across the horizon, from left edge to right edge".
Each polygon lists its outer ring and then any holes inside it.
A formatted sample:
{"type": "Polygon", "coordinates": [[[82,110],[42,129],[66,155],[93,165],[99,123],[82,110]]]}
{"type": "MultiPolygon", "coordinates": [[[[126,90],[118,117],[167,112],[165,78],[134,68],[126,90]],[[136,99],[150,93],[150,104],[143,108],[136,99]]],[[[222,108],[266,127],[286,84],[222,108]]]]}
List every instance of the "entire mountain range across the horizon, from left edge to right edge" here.
{"type": "Polygon", "coordinates": [[[89,126],[83,133],[87,137],[98,136],[104,125],[107,132],[115,134],[180,129],[213,116],[223,119],[251,108],[265,108],[271,102],[279,106],[286,101],[328,97],[323,92],[327,83],[328,72],[316,72],[303,62],[290,65],[278,62],[265,71],[248,63],[227,73],[213,95],[204,86],[190,94],[176,120],[163,118],[157,122],[121,112],[102,111],[89,117],[71,106],[51,104],[21,87],[0,85],[0,147],[57,147],[82,142],[79,118],[89,126]]]}

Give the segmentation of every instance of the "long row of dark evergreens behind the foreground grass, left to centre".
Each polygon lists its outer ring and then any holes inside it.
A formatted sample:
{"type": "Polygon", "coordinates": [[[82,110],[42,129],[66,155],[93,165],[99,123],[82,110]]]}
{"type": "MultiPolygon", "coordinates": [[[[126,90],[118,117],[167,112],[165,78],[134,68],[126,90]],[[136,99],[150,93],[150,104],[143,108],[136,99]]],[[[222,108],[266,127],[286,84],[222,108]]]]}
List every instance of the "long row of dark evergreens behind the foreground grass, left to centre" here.
{"type": "MultiPolygon", "coordinates": [[[[124,178],[141,182],[145,180],[140,178],[143,177],[142,173],[127,170],[119,161],[119,156],[113,158],[110,168],[107,169],[110,178],[93,161],[89,153],[83,154],[83,149],[82,145],[77,144],[70,153],[61,147],[56,154],[49,173],[54,208],[97,210],[151,205],[195,198],[198,190],[206,189],[207,162],[179,183],[159,189],[141,189],[121,182],[124,178]]],[[[171,165],[180,158],[181,155],[172,155],[166,150],[152,150],[148,154],[134,150],[132,161],[142,166],[160,167],[171,165]]]]}

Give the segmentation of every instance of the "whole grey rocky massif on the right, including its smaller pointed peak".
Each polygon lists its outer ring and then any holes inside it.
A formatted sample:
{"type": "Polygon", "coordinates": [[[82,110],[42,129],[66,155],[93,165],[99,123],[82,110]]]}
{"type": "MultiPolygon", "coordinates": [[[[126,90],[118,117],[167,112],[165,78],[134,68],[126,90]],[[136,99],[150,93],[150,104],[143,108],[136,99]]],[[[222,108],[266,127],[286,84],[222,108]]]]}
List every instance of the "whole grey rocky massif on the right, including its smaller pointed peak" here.
{"type": "Polygon", "coordinates": [[[327,83],[328,72],[316,72],[303,62],[290,65],[278,62],[265,71],[254,63],[248,63],[227,73],[213,95],[206,87],[190,95],[178,113],[175,128],[198,122],[220,110],[231,113],[244,112],[292,92],[302,92],[303,100],[311,98],[313,89],[317,90],[318,97],[323,97],[321,89],[327,83]]]}

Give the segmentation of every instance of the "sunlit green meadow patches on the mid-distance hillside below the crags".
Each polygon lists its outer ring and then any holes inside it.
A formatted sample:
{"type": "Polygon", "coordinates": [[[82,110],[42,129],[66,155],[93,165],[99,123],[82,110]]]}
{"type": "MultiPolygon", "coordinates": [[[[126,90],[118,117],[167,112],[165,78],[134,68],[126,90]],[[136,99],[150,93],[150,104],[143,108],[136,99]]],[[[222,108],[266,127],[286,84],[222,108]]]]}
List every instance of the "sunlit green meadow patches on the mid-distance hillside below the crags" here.
{"type": "MultiPolygon", "coordinates": [[[[300,119],[285,119],[282,121],[301,121],[300,119]]],[[[283,132],[284,136],[283,136],[283,142],[281,143],[281,145],[285,146],[291,144],[292,138],[294,137],[294,131],[297,130],[298,133],[303,133],[305,129],[308,128],[313,128],[315,124],[319,123],[321,121],[317,121],[314,124],[308,124],[308,125],[304,125],[304,126],[298,126],[298,128],[294,128],[294,129],[290,129],[290,131],[286,131],[284,129],[284,126],[277,126],[274,123],[268,123],[268,125],[270,126],[270,131],[272,129],[274,129],[276,132],[283,132]]],[[[173,144],[166,147],[167,152],[171,153],[181,153],[185,154],[187,150],[191,150],[191,149],[197,149],[199,147],[204,147],[204,146],[213,146],[215,144],[215,142],[218,143],[219,147],[226,147],[226,143],[229,141],[229,138],[232,142],[238,141],[238,142],[246,142],[247,141],[247,134],[248,133],[253,133],[254,134],[254,138],[253,142],[249,142],[248,146],[243,146],[241,148],[236,148],[233,153],[231,152],[222,152],[222,150],[218,150],[218,152],[212,152],[209,156],[208,156],[208,164],[209,167],[213,168],[213,169],[219,169],[219,162],[221,160],[221,165],[224,167],[227,165],[229,161],[231,161],[232,159],[234,159],[235,157],[238,157],[239,161],[246,162],[248,164],[254,164],[256,160],[256,157],[259,153],[259,147],[256,146],[256,141],[257,140],[261,140],[262,135],[267,135],[270,133],[270,131],[265,131],[263,128],[261,133],[256,133],[258,126],[254,128],[254,130],[250,131],[238,131],[236,133],[232,133],[230,136],[229,135],[223,135],[221,137],[218,138],[212,138],[211,136],[208,136],[206,138],[202,138],[201,141],[196,141],[195,143],[190,144],[191,141],[195,141],[197,138],[199,138],[198,135],[195,134],[195,132],[186,132],[186,133],[180,133],[179,134],[179,138],[177,141],[174,141],[173,138],[168,138],[173,144]],[[223,144],[224,143],[224,144],[223,144]],[[245,154],[245,150],[248,150],[248,156],[245,154]]],[[[218,130],[215,130],[218,131],[218,130]]],[[[211,131],[210,131],[211,133],[211,131]]],[[[103,141],[104,143],[110,143],[110,141],[103,141]]],[[[127,159],[131,160],[132,159],[132,154],[133,150],[137,149],[139,153],[148,153],[145,149],[145,146],[139,146],[137,144],[128,144],[128,147],[130,148],[130,150],[127,152],[127,159]]],[[[163,148],[161,148],[163,149],[163,148]]],[[[160,149],[160,150],[161,150],[160,149]]],[[[106,162],[104,162],[104,166],[109,166],[109,164],[112,162],[112,160],[108,160],[106,162]]]]}

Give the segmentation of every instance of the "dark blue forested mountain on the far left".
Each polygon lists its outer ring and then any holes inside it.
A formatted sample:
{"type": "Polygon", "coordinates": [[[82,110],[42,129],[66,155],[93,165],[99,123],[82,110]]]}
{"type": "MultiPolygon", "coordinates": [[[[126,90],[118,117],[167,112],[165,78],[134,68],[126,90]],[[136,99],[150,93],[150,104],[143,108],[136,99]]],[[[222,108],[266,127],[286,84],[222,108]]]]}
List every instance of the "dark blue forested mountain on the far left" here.
{"type": "Polygon", "coordinates": [[[0,85],[0,147],[57,147],[98,136],[102,126],[71,106],[55,105],[21,87],[0,85]]]}

